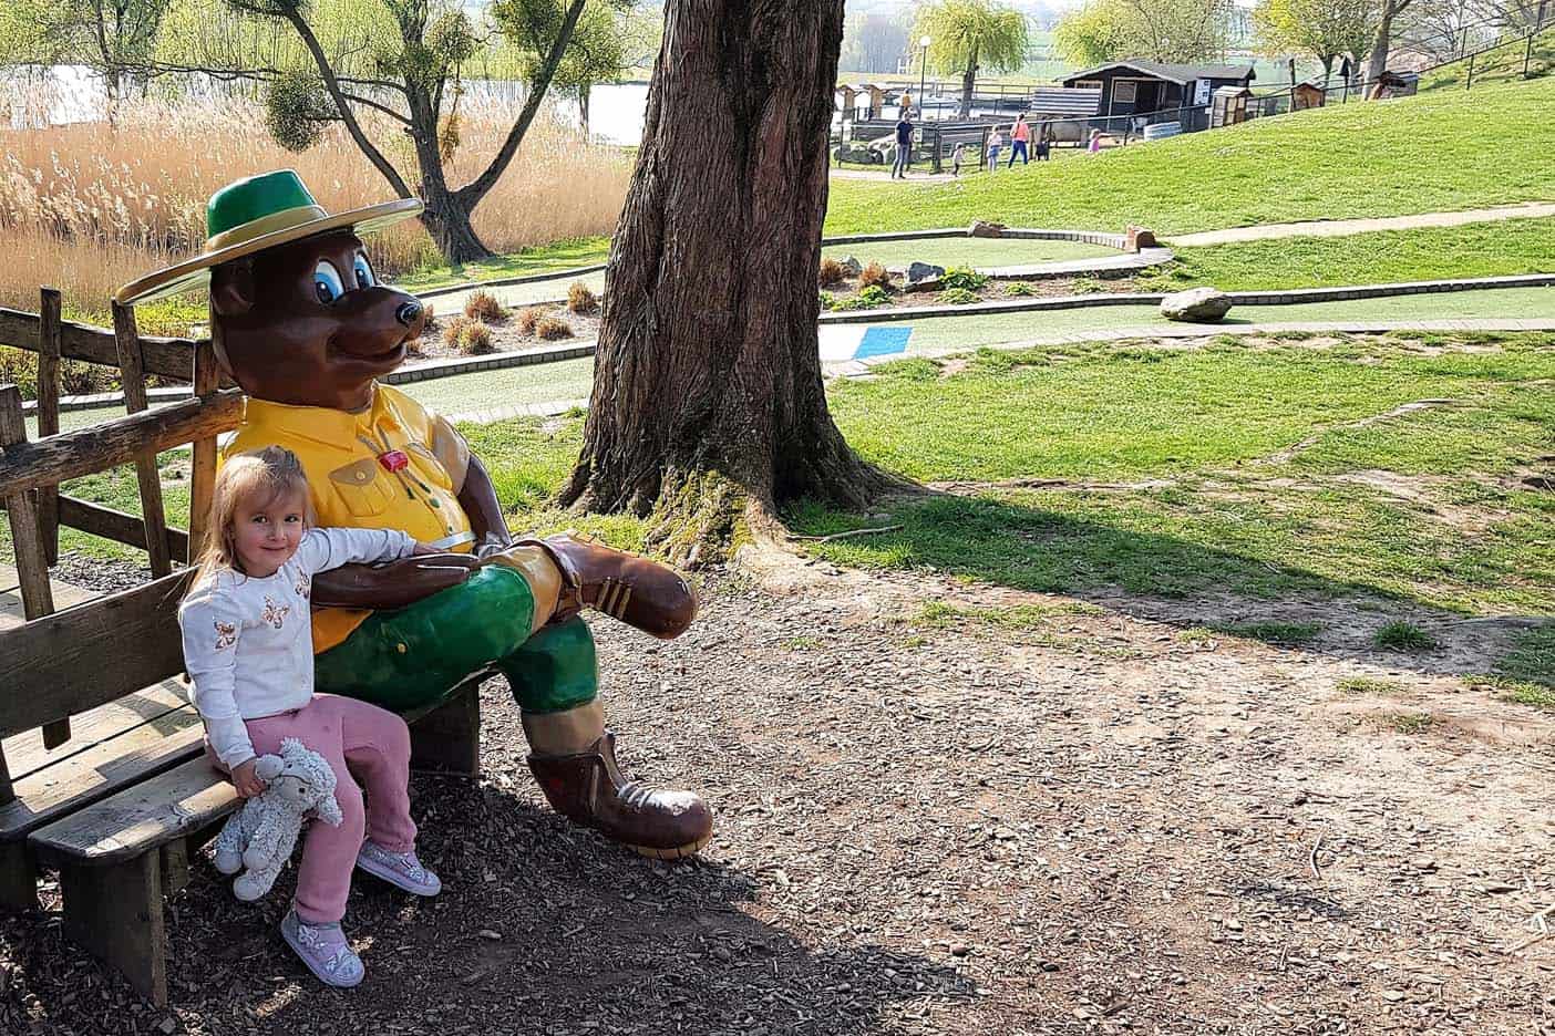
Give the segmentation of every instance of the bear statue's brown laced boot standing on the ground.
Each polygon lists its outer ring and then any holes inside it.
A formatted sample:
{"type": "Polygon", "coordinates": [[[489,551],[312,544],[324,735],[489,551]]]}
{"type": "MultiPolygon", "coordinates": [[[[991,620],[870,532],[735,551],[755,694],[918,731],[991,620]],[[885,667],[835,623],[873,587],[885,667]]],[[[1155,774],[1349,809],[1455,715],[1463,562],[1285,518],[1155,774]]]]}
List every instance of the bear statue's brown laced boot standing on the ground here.
{"type": "Polygon", "coordinates": [[[712,811],[692,792],[645,787],[622,778],[616,735],[600,728],[580,752],[546,749],[577,738],[603,722],[591,702],[560,714],[524,714],[524,733],[535,753],[529,769],[546,800],[561,815],[655,859],[695,856],[712,839],[712,811]]]}

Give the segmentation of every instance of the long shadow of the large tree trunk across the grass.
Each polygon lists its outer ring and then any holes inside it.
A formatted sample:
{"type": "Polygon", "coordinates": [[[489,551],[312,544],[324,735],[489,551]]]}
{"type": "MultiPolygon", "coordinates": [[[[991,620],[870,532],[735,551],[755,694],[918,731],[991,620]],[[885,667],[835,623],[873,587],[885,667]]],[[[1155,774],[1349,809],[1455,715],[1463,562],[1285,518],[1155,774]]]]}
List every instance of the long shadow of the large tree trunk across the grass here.
{"type": "MultiPolygon", "coordinates": [[[[1124,506],[1120,502],[1120,506],[1124,506]]],[[[1375,586],[1249,558],[1180,536],[1104,525],[1009,499],[928,492],[896,500],[899,528],[827,544],[824,556],[868,568],[922,568],[1011,590],[1057,593],[1110,612],[1177,626],[1183,635],[1242,635],[1280,648],[1432,674],[1483,674],[1541,615],[1466,617],[1375,586]],[[1392,651],[1375,641],[1389,623],[1409,623],[1434,648],[1392,651]]],[[[1249,516],[1249,520],[1258,520],[1249,516]]],[[[886,523],[810,511],[804,531],[886,523]]],[[[1396,545],[1390,545],[1396,550],[1396,545]]],[[[1424,551],[1426,547],[1421,547],[1424,551]]],[[[1465,565],[1490,584],[1490,565],[1465,565]]],[[[1555,674],[1552,674],[1555,676],[1555,674]]]]}

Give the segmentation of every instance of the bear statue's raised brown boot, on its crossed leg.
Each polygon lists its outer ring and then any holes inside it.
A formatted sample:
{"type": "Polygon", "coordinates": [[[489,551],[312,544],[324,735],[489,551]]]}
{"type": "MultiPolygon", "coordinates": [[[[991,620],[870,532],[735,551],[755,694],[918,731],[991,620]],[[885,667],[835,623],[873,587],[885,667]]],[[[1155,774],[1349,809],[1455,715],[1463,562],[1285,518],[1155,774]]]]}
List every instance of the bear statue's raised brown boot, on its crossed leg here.
{"type": "Polygon", "coordinates": [[[656,561],[574,533],[518,544],[540,547],[561,572],[554,621],[592,607],[645,634],[672,640],[697,617],[697,592],[678,572],[656,561]]]}

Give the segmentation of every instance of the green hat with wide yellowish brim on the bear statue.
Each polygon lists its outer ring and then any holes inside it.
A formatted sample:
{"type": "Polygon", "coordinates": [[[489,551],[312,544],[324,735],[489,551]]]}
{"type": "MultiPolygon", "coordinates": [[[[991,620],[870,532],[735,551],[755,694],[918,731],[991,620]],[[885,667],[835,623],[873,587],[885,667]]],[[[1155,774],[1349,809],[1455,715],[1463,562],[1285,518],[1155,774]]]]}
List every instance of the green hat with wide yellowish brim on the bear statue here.
{"type": "Polygon", "coordinates": [[[397,197],[331,216],[323,211],[292,169],[261,172],[221,188],[205,207],[205,250],[182,262],[148,273],[114,294],[132,306],[199,287],[210,267],[289,244],[328,230],[350,227],[358,235],[383,230],[421,213],[417,197],[397,197]]]}

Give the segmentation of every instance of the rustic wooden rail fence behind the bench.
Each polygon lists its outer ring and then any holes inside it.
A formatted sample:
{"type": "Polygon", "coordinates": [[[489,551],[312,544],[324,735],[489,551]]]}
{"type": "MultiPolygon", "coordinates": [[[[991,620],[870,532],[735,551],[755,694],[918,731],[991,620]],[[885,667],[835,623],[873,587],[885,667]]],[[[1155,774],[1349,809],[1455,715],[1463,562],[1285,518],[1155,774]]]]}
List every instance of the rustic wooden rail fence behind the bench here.
{"type": "MultiPolygon", "coordinates": [[[[59,292],[42,289],[39,312],[0,308],[0,345],[37,354],[37,440],[30,441],[22,395],[0,385],[0,506],[5,506],[22,607],[28,620],[54,610],[48,570],[59,559],[59,527],[145,550],[152,576],[199,555],[216,478],[216,435],[238,426],[243,395],[222,388],[210,340],[140,335],[135,312],[114,304],[114,328],[61,320],[59,292]],[[101,363],[120,371],[126,416],[76,432],[59,430],[59,360],[101,363]],[[146,377],[191,382],[194,398],[159,410],[146,402],[146,377]],[[168,528],[157,474],[157,452],[191,443],[190,530],[168,528]],[[140,481],[135,517],[59,492],[59,485],[134,463],[140,481]]],[[[70,738],[70,722],[44,728],[53,749],[70,738]]],[[[0,784],[6,775],[0,764],[0,784]]],[[[3,787],[0,787],[3,797],[3,787]]]]}

